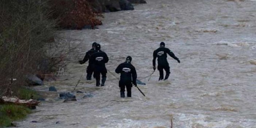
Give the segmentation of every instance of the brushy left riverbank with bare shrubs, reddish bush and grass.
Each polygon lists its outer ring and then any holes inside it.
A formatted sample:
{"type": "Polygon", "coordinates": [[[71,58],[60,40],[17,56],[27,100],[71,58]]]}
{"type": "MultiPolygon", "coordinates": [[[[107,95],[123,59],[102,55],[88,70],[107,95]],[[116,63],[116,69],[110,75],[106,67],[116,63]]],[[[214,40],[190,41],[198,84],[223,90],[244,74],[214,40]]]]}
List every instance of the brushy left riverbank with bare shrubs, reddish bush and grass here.
{"type": "MultiPolygon", "coordinates": [[[[102,25],[102,12],[133,10],[131,3],[145,0],[1,0],[0,1],[0,98],[21,100],[40,96],[29,89],[29,74],[42,81],[56,74],[64,61],[64,51],[47,53],[57,46],[57,30],[95,29],[102,25]],[[115,3],[115,2],[118,3],[115,3]],[[42,77],[43,76],[43,77],[42,77]]],[[[13,126],[31,113],[26,106],[0,104],[0,127],[13,126]]]]}

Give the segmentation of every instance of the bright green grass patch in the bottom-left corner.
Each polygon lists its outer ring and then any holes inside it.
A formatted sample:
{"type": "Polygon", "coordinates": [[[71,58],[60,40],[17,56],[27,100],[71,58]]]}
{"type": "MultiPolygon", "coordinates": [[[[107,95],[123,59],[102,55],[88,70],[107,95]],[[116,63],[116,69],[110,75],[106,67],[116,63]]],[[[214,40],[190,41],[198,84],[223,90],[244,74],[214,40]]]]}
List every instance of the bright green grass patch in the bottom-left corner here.
{"type": "Polygon", "coordinates": [[[14,120],[24,119],[31,110],[19,105],[0,105],[0,127],[11,126],[14,120]]]}

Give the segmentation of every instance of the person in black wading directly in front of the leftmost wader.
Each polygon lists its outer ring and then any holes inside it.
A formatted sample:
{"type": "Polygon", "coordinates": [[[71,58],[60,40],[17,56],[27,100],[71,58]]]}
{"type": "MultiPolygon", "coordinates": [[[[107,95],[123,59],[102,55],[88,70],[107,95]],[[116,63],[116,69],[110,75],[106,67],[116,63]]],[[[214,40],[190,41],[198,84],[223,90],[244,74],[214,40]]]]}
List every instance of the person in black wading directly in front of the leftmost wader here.
{"type": "Polygon", "coordinates": [[[107,73],[105,63],[108,63],[108,55],[100,50],[100,44],[96,44],[96,52],[90,57],[89,63],[91,63],[93,67],[96,86],[100,86],[100,74],[102,75],[101,86],[104,86],[107,73]]]}

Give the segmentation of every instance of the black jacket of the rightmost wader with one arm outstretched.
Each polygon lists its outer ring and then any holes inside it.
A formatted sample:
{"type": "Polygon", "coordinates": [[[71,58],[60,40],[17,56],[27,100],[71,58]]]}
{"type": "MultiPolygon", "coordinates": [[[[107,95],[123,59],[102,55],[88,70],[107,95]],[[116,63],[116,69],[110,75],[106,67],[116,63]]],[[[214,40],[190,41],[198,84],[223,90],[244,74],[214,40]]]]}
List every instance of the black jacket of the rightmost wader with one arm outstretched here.
{"type": "Polygon", "coordinates": [[[161,65],[161,66],[168,65],[168,61],[166,59],[167,54],[178,61],[179,58],[177,58],[170,49],[165,47],[159,47],[153,53],[153,66],[154,67],[156,66],[156,57],[157,57],[158,65],[161,65]]]}

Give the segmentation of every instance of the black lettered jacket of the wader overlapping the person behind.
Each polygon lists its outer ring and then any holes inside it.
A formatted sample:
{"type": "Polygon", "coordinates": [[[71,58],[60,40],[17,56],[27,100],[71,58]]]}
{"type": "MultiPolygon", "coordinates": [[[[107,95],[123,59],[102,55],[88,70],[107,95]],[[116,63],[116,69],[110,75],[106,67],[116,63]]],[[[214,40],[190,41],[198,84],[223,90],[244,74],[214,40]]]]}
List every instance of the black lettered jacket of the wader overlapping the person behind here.
{"type": "Polygon", "coordinates": [[[108,55],[105,52],[98,50],[91,55],[89,63],[94,67],[105,67],[105,63],[108,63],[108,55]]]}

